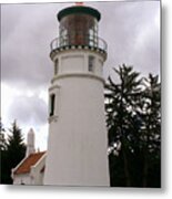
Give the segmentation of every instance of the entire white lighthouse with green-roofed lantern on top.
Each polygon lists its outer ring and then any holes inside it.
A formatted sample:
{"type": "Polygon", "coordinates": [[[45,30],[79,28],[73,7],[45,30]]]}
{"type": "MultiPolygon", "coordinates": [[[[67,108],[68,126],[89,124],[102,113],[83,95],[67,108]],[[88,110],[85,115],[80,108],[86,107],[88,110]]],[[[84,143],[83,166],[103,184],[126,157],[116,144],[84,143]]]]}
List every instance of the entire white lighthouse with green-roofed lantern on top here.
{"type": "Polygon", "coordinates": [[[58,13],[44,185],[109,186],[102,77],[107,44],[98,38],[100,18],[98,10],[81,4],[58,13]]]}

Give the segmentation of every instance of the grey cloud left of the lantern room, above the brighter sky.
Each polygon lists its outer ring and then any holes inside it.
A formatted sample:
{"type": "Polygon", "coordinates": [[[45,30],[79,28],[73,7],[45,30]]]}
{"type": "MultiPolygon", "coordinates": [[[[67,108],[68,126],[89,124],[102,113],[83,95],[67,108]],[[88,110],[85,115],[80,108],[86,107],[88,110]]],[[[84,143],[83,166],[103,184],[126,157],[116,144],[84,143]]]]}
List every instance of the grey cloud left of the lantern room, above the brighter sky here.
{"type": "Polygon", "coordinates": [[[29,86],[52,75],[50,41],[57,36],[59,4],[2,6],[2,81],[29,86]]]}

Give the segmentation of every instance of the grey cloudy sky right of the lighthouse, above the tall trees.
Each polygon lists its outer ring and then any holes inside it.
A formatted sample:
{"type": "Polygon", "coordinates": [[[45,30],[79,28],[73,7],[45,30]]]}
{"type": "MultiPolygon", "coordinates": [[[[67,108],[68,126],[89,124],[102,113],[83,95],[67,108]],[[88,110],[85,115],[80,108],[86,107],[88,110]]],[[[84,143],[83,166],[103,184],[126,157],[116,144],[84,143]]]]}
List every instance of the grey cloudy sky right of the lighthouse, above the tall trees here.
{"type": "Polygon", "coordinates": [[[109,2],[97,8],[102,13],[100,34],[109,45],[104,75],[122,63],[133,65],[143,75],[159,74],[160,30],[154,20],[160,2],[109,2]]]}

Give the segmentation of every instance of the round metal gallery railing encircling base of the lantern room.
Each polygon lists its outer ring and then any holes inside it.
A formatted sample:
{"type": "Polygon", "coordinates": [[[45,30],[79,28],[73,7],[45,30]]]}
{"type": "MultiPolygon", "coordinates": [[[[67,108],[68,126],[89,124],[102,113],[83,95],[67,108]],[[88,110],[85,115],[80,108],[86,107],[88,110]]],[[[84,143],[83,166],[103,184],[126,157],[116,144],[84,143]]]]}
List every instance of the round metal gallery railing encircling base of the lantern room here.
{"type": "Polygon", "coordinates": [[[60,48],[88,46],[107,52],[108,45],[101,38],[91,38],[90,35],[65,35],[55,38],[50,44],[51,52],[60,48]]]}

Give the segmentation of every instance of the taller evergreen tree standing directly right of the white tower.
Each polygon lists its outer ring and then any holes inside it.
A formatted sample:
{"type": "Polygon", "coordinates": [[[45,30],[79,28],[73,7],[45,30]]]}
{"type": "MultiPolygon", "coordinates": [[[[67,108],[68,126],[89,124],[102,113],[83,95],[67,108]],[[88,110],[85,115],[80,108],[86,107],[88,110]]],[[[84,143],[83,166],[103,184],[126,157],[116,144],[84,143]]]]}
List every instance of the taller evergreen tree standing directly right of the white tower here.
{"type": "MultiPolygon", "coordinates": [[[[114,147],[113,153],[118,154],[118,157],[110,156],[110,171],[113,172],[115,167],[119,167],[121,177],[118,174],[112,177],[112,186],[132,186],[130,163],[133,151],[133,119],[134,108],[136,106],[138,98],[140,97],[141,78],[139,73],[134,72],[132,66],[122,65],[119,70],[114,69],[120,81],[118,84],[113,83],[109,77],[109,84],[107,85],[107,125],[109,130],[109,145],[121,145],[120,151],[114,147]],[[118,158],[118,161],[117,161],[118,158]],[[114,161],[114,167],[111,168],[111,164],[114,161]],[[118,166],[117,164],[120,165],[118,166]],[[122,170],[121,170],[122,169],[122,170]],[[121,181],[121,182],[120,182],[121,181]]],[[[135,138],[135,137],[134,137],[135,138]]],[[[118,146],[117,146],[118,148],[118,146]]]]}

